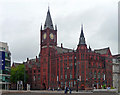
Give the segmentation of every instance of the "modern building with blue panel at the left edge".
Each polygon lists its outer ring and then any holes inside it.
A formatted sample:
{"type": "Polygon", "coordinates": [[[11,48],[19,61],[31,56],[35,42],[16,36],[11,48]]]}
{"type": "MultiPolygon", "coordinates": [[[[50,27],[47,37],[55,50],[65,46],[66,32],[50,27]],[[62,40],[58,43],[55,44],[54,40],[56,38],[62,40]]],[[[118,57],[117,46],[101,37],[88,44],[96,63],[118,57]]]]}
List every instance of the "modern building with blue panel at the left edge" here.
{"type": "Polygon", "coordinates": [[[0,42],[0,89],[10,87],[11,53],[7,43],[0,42]]]}

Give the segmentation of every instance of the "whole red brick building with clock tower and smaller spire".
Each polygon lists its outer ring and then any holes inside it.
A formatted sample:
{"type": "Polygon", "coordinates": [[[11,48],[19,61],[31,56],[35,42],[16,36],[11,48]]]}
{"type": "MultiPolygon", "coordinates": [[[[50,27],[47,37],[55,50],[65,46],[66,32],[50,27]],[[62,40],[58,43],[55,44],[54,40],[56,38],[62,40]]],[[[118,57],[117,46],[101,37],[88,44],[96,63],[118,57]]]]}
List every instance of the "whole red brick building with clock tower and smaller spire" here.
{"type": "Polygon", "coordinates": [[[40,30],[40,55],[27,60],[28,83],[32,89],[87,89],[112,86],[112,55],[109,47],[87,48],[83,26],[76,50],[57,46],[57,26],[53,26],[48,9],[44,29],[40,30]]]}

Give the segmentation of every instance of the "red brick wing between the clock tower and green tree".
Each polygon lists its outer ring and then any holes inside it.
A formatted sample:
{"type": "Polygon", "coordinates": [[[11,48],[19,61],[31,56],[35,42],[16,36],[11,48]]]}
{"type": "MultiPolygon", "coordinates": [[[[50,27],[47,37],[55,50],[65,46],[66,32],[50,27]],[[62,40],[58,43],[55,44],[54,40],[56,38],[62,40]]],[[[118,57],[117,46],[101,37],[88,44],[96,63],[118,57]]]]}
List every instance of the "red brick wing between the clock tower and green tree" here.
{"type": "Polygon", "coordinates": [[[41,89],[40,84],[40,58],[28,59],[24,63],[26,68],[26,73],[28,74],[27,84],[30,84],[31,89],[39,90],[41,89]]]}

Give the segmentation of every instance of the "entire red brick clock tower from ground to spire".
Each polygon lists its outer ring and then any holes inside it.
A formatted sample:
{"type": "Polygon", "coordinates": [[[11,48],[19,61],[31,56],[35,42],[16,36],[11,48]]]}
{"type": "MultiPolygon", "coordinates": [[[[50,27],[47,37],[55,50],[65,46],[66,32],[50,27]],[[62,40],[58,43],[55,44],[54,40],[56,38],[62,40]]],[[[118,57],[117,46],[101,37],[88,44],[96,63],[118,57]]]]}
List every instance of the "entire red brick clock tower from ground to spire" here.
{"type": "Polygon", "coordinates": [[[50,10],[48,8],[44,29],[40,30],[40,64],[41,64],[41,88],[48,89],[55,84],[56,61],[55,46],[57,46],[57,26],[53,26],[50,10]],[[54,60],[51,60],[54,59],[54,60]]]}

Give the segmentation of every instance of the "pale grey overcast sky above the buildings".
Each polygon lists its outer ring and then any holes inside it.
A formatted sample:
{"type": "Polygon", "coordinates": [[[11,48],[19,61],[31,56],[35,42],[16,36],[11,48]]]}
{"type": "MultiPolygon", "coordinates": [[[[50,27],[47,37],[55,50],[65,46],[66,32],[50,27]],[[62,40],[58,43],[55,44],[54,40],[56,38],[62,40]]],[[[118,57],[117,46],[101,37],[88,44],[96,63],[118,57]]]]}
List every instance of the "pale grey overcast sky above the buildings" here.
{"type": "Polygon", "coordinates": [[[58,27],[58,46],[76,49],[80,25],[92,50],[118,52],[119,0],[0,0],[0,41],[7,42],[12,62],[35,58],[40,52],[40,26],[48,5],[58,27]]]}

